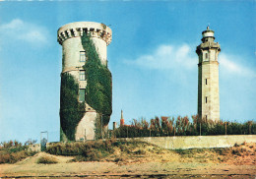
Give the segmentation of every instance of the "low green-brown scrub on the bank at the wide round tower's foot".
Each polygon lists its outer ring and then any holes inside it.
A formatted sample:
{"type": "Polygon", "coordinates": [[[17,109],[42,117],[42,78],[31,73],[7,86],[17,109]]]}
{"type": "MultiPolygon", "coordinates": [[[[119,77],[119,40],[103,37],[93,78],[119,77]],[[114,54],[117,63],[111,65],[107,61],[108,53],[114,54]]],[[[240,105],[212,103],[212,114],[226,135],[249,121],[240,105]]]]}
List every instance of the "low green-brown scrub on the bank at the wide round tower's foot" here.
{"type": "MultiPolygon", "coordinates": [[[[141,155],[146,151],[143,149],[147,146],[143,142],[125,142],[115,140],[89,141],[74,143],[56,143],[52,144],[46,152],[50,154],[75,156],[71,161],[115,161],[116,157],[121,155],[141,155]],[[114,154],[120,151],[117,156],[114,154]],[[109,159],[110,158],[110,159],[109,159]]],[[[118,160],[119,161],[119,160],[118,160]]]]}

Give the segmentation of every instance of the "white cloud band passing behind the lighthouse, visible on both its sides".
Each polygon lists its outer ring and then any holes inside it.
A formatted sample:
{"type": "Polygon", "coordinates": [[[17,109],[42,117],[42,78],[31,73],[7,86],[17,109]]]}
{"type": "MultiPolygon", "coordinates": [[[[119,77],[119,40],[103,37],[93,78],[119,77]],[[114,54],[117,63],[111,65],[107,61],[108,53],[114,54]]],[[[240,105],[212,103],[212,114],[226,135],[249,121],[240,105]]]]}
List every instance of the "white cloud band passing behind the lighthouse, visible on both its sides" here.
{"type": "MultiPolygon", "coordinates": [[[[256,77],[256,71],[239,64],[242,57],[220,53],[220,68],[229,76],[256,77]]],[[[245,60],[242,60],[246,62],[245,60]]],[[[172,45],[161,44],[151,54],[139,56],[136,60],[125,60],[127,64],[133,64],[142,68],[164,70],[197,69],[198,57],[195,49],[188,44],[172,45]]]]}

